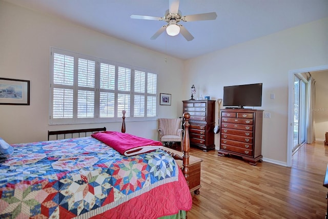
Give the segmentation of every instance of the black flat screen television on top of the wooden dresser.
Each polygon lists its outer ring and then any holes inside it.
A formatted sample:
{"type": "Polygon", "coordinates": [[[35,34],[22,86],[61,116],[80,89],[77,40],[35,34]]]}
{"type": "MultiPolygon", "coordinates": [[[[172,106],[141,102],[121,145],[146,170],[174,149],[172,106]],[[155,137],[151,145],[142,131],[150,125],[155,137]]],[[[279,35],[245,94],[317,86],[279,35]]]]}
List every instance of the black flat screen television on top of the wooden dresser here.
{"type": "Polygon", "coordinates": [[[262,106],[262,83],[223,87],[223,106],[239,109],[262,106]]]}

